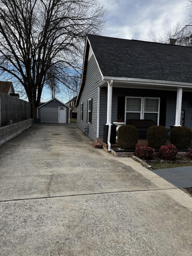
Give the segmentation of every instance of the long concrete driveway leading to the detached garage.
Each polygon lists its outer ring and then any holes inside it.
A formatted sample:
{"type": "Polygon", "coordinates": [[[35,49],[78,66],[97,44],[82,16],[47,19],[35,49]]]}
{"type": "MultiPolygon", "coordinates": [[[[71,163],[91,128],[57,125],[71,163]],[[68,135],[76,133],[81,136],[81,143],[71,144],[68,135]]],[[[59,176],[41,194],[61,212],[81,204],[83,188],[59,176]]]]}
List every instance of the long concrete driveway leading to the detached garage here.
{"type": "Polygon", "coordinates": [[[0,147],[0,255],[192,255],[192,198],[75,124],[0,147]]]}

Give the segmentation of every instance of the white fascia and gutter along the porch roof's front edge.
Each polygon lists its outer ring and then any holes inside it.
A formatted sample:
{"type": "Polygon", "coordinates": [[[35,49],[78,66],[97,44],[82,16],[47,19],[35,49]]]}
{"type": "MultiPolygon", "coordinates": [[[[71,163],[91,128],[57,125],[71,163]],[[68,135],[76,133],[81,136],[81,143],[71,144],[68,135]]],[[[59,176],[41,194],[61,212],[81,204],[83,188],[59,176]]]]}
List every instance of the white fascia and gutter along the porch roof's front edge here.
{"type": "Polygon", "coordinates": [[[151,79],[140,79],[140,78],[129,78],[129,77],[102,77],[103,81],[123,82],[123,83],[138,83],[138,84],[149,84],[158,86],[170,86],[170,87],[186,87],[192,88],[192,83],[182,83],[174,81],[162,81],[162,80],[151,80],[151,79]]]}

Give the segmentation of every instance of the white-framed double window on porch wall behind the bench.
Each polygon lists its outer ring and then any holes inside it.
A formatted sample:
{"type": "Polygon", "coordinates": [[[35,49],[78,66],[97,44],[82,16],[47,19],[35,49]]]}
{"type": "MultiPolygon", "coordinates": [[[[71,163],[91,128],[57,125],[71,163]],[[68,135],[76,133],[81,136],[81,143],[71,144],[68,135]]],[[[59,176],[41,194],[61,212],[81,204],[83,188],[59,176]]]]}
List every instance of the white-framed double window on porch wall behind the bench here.
{"type": "Polygon", "coordinates": [[[152,119],[159,125],[160,98],[126,97],[125,118],[152,119]]]}

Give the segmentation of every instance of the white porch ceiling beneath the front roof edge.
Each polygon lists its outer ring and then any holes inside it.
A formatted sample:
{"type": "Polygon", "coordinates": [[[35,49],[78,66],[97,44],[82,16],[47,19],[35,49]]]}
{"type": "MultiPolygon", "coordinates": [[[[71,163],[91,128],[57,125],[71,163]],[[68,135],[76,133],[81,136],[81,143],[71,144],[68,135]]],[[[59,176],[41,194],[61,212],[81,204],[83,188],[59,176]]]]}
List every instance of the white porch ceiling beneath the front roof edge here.
{"type": "MultiPolygon", "coordinates": [[[[107,87],[107,82],[104,83],[101,87],[107,87]]],[[[154,84],[140,84],[140,83],[126,83],[113,80],[113,87],[119,88],[135,88],[135,89],[153,89],[153,90],[168,90],[168,91],[177,91],[178,86],[164,86],[164,85],[154,85],[154,84]]],[[[183,91],[192,92],[191,88],[183,87],[183,91]]]]}

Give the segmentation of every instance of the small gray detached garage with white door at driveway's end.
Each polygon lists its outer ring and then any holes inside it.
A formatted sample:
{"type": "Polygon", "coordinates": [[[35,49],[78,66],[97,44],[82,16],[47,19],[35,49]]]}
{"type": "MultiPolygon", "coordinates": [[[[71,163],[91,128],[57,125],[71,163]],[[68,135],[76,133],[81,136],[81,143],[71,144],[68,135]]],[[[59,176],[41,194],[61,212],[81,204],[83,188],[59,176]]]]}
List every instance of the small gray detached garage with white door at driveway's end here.
{"type": "Polygon", "coordinates": [[[58,99],[53,98],[37,108],[37,118],[41,119],[41,123],[69,123],[70,109],[58,99]]]}

